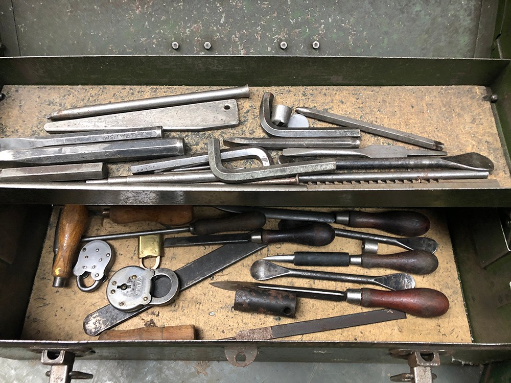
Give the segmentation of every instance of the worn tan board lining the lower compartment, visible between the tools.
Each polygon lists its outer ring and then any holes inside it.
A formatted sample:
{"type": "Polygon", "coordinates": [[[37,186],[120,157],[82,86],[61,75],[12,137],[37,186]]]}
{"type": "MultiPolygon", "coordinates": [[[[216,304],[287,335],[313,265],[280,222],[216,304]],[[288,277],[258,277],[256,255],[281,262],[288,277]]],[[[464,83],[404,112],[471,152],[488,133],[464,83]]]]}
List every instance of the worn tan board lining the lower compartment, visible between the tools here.
{"type": "MultiPolygon", "coordinates": [[[[436,253],[439,259],[439,267],[431,275],[414,277],[417,287],[434,288],[447,295],[451,307],[446,315],[432,319],[408,316],[407,319],[400,321],[319,332],[288,339],[313,341],[470,342],[469,324],[465,314],[445,219],[440,210],[422,212],[427,214],[431,220],[431,229],[427,236],[434,238],[439,244],[439,249],[436,253]]],[[[197,218],[212,217],[216,214],[218,214],[218,211],[213,208],[196,208],[197,218]]],[[[44,243],[22,339],[62,341],[96,339],[86,336],[82,329],[82,321],[87,314],[108,303],[105,295],[106,285],[104,284],[94,293],[80,292],[74,280],[71,280],[69,286],[64,289],[52,287],[51,266],[55,221],[56,214],[54,214],[44,243]]],[[[274,228],[275,224],[275,220],[269,220],[266,227],[274,228]]],[[[107,218],[92,216],[87,234],[94,235],[157,227],[157,224],[150,223],[117,225],[107,218]]],[[[110,276],[122,267],[137,264],[136,238],[110,241],[110,245],[116,255],[115,264],[110,272],[110,276]]],[[[317,248],[317,250],[346,251],[351,254],[359,254],[360,245],[359,241],[336,238],[331,245],[317,248]]],[[[177,269],[191,260],[210,252],[214,248],[189,247],[165,249],[165,256],[161,260],[161,267],[177,269]]],[[[366,308],[350,305],[345,302],[333,303],[312,299],[298,299],[295,319],[241,313],[234,311],[232,308],[234,292],[220,290],[209,284],[209,282],[214,280],[250,281],[252,278],[249,274],[249,268],[253,261],[267,255],[290,254],[294,251],[304,251],[307,249],[310,248],[303,245],[270,245],[214,277],[208,278],[183,291],[174,303],[165,307],[149,309],[142,315],[121,324],[117,329],[194,324],[198,330],[198,339],[221,339],[234,336],[240,329],[332,317],[367,310],[366,308]]],[[[380,245],[380,253],[394,253],[401,250],[396,247],[380,245]]],[[[293,266],[291,265],[291,267],[293,266]]],[[[311,269],[326,270],[327,268],[311,269]]],[[[328,268],[328,270],[366,275],[384,275],[392,272],[385,269],[363,269],[355,266],[350,268],[328,268]]],[[[354,284],[293,278],[280,278],[268,282],[338,290],[358,287],[354,284]]]]}

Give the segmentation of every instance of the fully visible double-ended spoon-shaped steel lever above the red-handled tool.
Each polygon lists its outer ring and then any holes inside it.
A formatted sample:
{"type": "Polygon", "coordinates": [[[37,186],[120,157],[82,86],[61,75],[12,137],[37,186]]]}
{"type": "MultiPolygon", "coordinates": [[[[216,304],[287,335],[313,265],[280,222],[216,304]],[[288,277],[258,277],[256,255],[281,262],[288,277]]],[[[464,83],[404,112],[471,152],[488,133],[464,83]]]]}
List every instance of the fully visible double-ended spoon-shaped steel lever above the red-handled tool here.
{"type": "Polygon", "coordinates": [[[376,284],[389,290],[405,290],[415,287],[415,280],[411,275],[404,273],[388,274],[382,276],[355,275],[331,273],[327,271],[313,271],[290,269],[268,262],[257,260],[250,268],[250,275],[257,280],[267,280],[278,277],[298,277],[308,279],[333,280],[337,282],[350,282],[362,284],[376,284]]]}

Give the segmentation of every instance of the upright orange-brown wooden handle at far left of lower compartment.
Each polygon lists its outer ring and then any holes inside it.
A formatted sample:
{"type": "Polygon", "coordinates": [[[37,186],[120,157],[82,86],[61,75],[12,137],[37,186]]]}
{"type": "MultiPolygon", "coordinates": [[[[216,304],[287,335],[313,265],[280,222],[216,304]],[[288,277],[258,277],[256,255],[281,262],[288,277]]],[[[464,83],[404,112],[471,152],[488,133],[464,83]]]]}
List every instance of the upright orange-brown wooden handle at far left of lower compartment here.
{"type": "Polygon", "coordinates": [[[53,262],[54,277],[69,278],[77,258],[80,238],[87,226],[87,208],[84,205],[65,205],[59,219],[58,250],[53,262]]]}

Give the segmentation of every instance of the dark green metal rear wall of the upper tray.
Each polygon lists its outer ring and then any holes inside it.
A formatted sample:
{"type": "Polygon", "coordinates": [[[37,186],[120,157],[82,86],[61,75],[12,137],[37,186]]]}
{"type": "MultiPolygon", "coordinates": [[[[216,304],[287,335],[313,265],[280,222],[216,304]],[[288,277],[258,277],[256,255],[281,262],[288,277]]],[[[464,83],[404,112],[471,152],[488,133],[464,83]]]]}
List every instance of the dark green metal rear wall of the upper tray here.
{"type": "Polygon", "coordinates": [[[6,85],[490,86],[508,59],[339,56],[54,56],[0,58],[6,85]],[[278,70],[268,70],[278,68],[278,70]],[[299,76],[296,74],[299,73],[299,76]]]}

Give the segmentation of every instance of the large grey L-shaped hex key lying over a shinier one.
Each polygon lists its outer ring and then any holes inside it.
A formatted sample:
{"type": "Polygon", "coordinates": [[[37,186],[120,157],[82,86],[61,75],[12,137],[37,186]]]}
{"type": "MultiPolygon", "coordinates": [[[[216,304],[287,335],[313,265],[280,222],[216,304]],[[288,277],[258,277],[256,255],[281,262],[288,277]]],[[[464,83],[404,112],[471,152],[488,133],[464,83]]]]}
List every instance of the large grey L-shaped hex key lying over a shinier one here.
{"type": "Polygon", "coordinates": [[[220,141],[211,138],[207,143],[207,153],[213,174],[226,183],[242,183],[267,180],[296,174],[328,173],[336,169],[333,160],[303,161],[300,164],[270,165],[254,169],[227,169],[222,164],[220,141]]]}

